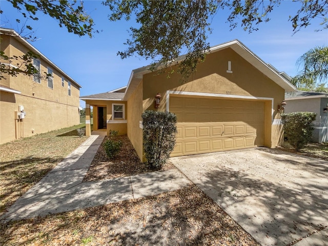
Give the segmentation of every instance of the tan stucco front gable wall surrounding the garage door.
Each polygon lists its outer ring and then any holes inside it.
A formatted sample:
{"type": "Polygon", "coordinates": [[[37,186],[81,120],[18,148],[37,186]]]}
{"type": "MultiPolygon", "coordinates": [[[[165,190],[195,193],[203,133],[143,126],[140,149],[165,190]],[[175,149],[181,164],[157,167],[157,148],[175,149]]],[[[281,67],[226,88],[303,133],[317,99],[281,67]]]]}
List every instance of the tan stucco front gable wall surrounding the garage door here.
{"type": "Polygon", "coordinates": [[[167,91],[215,93],[230,96],[231,99],[238,96],[267,98],[259,99],[265,101],[264,145],[275,147],[281,144],[280,125],[272,124],[274,120],[278,122],[280,119],[278,105],[284,99],[284,89],[232,49],[208,54],[204,63],[198,65],[197,72],[186,83],[182,84],[180,78],[176,73],[170,75],[170,78],[167,78],[166,73],[144,75],[143,110],[155,110],[154,96],[159,92],[162,99],[158,110],[165,111],[167,91]],[[228,61],[231,61],[232,73],[227,72],[228,61]]]}

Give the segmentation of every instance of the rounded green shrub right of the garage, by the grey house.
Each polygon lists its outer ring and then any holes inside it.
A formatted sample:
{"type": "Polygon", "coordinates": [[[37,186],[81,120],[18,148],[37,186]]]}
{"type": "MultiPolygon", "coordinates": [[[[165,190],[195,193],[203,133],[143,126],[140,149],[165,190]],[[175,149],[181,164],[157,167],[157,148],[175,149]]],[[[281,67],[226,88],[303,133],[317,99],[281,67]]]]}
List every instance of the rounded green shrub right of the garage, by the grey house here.
{"type": "Polygon", "coordinates": [[[284,134],[295,151],[303,148],[311,141],[313,121],[316,119],[313,112],[294,112],[281,114],[284,134]]]}

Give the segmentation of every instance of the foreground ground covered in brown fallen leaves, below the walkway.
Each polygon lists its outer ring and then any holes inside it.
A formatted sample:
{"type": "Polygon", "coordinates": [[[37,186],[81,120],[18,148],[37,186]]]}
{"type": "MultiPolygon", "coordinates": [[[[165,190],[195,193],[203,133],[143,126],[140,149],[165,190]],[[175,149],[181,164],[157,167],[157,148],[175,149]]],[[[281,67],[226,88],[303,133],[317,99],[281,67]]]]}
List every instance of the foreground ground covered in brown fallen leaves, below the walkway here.
{"type": "Polygon", "coordinates": [[[190,185],[45,218],[9,222],[2,245],[260,245],[190,185]]]}

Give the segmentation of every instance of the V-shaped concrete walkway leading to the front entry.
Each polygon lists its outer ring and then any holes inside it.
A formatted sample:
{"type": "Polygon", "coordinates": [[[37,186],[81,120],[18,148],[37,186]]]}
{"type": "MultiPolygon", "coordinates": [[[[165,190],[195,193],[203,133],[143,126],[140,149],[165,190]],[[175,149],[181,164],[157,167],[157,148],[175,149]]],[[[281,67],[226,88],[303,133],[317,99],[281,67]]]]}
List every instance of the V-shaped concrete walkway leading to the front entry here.
{"type": "Polygon", "coordinates": [[[180,189],[190,183],[176,169],[83,182],[105,137],[104,134],[100,134],[90,136],[20,197],[3,215],[3,222],[156,195],[180,189]]]}

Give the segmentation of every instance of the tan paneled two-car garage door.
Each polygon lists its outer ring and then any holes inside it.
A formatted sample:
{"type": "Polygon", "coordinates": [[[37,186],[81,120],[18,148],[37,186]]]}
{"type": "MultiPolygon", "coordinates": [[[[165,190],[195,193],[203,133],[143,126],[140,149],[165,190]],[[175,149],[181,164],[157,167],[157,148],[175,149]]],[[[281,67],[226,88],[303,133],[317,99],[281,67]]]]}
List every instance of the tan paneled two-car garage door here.
{"type": "Polygon", "coordinates": [[[171,156],[252,148],[264,145],[264,102],[170,95],[177,115],[171,156]]]}

